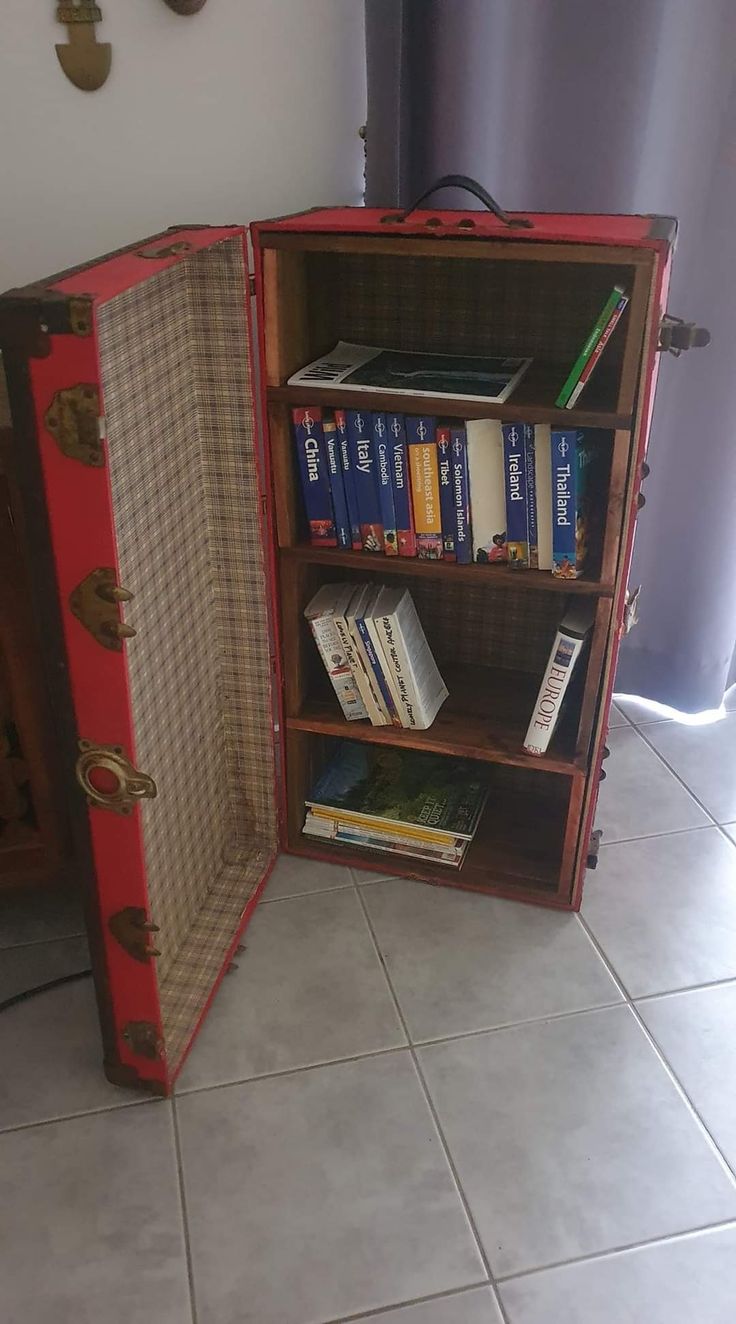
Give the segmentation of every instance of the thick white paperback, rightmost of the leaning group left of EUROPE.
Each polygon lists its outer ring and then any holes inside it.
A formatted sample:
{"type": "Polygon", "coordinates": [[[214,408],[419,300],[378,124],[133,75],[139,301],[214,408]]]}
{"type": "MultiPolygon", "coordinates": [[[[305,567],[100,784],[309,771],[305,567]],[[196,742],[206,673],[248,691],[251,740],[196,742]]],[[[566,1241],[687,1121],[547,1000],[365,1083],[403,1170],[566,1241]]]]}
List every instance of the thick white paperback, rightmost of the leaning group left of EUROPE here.
{"type": "Polygon", "coordinates": [[[426,731],[447,698],[412,594],[406,588],[384,587],[371,608],[381,643],[389,685],[397,698],[401,724],[426,731]]]}

